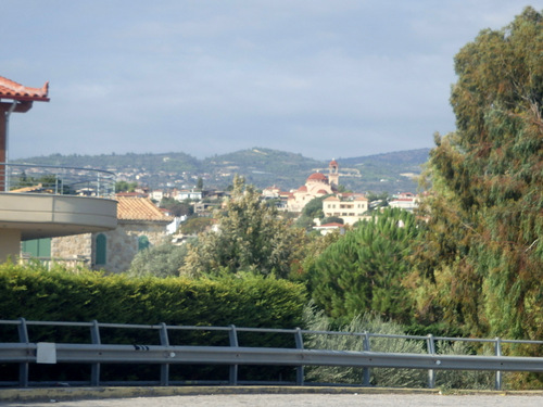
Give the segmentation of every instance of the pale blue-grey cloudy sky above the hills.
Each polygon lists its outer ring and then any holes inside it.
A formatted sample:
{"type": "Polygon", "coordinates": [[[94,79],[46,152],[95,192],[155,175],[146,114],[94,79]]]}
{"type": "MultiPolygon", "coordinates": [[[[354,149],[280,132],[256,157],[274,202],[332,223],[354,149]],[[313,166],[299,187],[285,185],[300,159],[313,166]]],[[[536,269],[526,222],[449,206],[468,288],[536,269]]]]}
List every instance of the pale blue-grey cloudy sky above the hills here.
{"type": "Polygon", "coordinates": [[[432,148],[454,55],[527,1],[0,0],[0,76],[51,99],[12,114],[9,157],[432,148]]]}

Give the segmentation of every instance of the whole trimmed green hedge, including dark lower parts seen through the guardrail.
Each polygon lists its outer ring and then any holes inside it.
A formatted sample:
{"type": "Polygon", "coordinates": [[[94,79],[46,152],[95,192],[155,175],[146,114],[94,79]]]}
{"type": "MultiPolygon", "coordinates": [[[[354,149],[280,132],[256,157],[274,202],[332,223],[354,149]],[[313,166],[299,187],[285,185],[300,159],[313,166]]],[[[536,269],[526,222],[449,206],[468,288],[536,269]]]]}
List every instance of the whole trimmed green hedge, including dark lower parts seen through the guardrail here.
{"type": "MultiPolygon", "coordinates": [[[[302,323],[305,289],[286,280],[252,275],[216,279],[131,278],[90,270],[46,270],[39,265],[0,265],[0,319],[91,321],[176,326],[236,325],[295,328],[302,323]]],[[[28,326],[30,342],[90,343],[84,328],[28,326]]],[[[172,345],[228,345],[228,332],[169,330],[172,345]]],[[[160,344],[156,330],[100,328],[102,343],[160,344]]],[[[294,347],[294,335],[239,333],[241,346],[294,347]]],[[[14,326],[0,325],[0,342],[17,342],[14,326]]],[[[90,367],[36,365],[30,380],[89,380],[90,367]],[[52,379],[54,378],[54,379],[52,379]]],[[[225,380],[224,366],[175,366],[172,380],[225,380]]],[[[240,367],[240,379],[291,378],[289,367],[240,367]]],[[[0,380],[16,380],[16,366],[0,365],[0,380]]],[[[156,380],[155,366],[102,366],[102,380],[156,380]]]]}

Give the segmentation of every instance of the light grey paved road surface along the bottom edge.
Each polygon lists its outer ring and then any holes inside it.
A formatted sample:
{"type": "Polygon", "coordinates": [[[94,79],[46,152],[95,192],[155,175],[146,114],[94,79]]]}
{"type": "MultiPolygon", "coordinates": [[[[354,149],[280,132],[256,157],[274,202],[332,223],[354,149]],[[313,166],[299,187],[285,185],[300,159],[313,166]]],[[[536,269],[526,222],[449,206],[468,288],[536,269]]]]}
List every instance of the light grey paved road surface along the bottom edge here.
{"type": "Polygon", "coordinates": [[[543,406],[543,395],[439,395],[439,394],[222,394],[167,397],[132,397],[90,400],[50,399],[35,403],[1,403],[21,407],[339,407],[339,406],[543,406]]]}

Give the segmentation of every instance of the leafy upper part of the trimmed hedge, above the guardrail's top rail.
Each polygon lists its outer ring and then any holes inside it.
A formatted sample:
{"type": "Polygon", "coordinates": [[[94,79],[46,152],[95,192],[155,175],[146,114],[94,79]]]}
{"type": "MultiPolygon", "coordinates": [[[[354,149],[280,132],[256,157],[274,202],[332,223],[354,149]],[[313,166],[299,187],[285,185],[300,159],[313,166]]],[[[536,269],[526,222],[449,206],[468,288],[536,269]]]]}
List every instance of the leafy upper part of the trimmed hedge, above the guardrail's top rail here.
{"type": "Polygon", "coordinates": [[[294,328],[305,301],[300,284],[253,276],[130,278],[0,265],[0,319],[294,328]]]}

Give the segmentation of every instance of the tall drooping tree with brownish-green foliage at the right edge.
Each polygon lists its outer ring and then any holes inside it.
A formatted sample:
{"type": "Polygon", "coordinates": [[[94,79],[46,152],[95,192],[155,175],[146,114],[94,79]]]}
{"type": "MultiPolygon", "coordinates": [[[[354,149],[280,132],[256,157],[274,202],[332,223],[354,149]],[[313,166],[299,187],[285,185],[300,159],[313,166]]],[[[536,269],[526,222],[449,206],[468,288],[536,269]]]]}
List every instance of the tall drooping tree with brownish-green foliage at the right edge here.
{"type": "Polygon", "coordinates": [[[543,17],[531,8],[455,58],[457,130],[425,174],[419,314],[466,333],[543,334],[543,17]]]}

